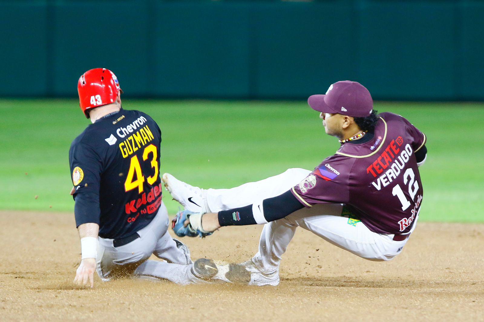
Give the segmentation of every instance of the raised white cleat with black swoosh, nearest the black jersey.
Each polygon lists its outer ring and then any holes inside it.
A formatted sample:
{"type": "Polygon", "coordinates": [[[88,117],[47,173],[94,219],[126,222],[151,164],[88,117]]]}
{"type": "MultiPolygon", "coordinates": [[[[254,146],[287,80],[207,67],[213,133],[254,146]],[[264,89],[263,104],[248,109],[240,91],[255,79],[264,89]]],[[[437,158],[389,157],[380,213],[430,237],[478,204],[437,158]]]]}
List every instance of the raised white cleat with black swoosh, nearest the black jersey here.
{"type": "Polygon", "coordinates": [[[161,180],[165,183],[165,188],[171,193],[173,199],[178,201],[186,210],[210,212],[203,197],[202,189],[180,181],[169,173],[164,174],[161,180]]]}

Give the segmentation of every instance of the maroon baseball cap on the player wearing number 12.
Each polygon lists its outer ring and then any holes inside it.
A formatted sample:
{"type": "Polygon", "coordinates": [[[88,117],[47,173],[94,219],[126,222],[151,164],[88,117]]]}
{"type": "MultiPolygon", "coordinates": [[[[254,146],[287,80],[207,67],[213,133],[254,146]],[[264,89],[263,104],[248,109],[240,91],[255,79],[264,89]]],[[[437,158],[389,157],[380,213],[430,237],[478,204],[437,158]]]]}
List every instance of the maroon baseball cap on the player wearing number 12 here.
{"type": "Polygon", "coordinates": [[[338,113],[350,117],[366,117],[373,112],[373,99],[363,85],[339,81],[326,94],[311,95],[307,100],[312,109],[322,113],[338,113]]]}

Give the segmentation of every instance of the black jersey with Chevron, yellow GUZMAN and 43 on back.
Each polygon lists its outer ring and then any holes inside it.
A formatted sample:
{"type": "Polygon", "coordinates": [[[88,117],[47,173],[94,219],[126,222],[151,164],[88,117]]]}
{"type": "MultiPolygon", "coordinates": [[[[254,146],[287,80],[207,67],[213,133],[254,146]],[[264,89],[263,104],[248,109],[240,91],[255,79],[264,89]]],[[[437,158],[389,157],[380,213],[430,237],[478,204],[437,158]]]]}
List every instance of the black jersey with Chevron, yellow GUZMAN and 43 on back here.
{"type": "Polygon", "coordinates": [[[89,125],[69,150],[76,226],[123,238],[148,225],[161,205],[161,132],[139,111],[121,110],[89,125]]]}

